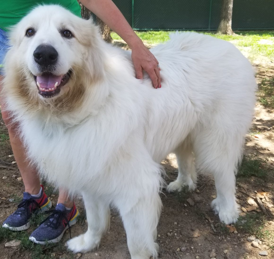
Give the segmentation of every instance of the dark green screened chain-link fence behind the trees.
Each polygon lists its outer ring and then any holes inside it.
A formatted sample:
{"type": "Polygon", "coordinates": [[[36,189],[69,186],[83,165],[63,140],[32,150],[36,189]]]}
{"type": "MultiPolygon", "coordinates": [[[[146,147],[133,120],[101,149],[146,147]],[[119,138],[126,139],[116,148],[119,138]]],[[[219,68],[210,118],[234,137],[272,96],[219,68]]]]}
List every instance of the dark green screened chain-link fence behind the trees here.
{"type": "MultiPolygon", "coordinates": [[[[113,0],[134,30],[216,30],[222,0],[113,0]]],[[[234,0],[233,30],[273,30],[274,0],[234,0]]]]}

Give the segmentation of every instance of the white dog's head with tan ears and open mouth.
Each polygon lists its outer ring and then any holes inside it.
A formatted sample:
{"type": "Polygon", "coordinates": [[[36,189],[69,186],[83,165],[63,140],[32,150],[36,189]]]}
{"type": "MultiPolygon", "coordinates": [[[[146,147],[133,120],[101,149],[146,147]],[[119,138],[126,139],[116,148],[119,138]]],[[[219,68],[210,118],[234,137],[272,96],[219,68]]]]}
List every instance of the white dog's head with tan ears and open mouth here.
{"type": "Polygon", "coordinates": [[[34,8],[11,30],[10,42],[5,69],[21,96],[48,102],[78,91],[83,77],[101,76],[98,28],[58,5],[34,8]]]}

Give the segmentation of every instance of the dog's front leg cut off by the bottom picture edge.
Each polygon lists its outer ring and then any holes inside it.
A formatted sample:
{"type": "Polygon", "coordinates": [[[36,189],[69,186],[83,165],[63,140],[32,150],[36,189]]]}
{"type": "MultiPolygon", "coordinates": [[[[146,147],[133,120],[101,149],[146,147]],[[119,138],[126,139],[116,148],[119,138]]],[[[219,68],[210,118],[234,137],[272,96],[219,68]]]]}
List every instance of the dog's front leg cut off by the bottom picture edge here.
{"type": "MultiPolygon", "coordinates": [[[[132,190],[134,192],[134,190],[132,190]]],[[[131,259],[156,258],[159,245],[155,242],[162,202],[158,193],[140,197],[129,211],[119,208],[127,233],[131,259]]]]}

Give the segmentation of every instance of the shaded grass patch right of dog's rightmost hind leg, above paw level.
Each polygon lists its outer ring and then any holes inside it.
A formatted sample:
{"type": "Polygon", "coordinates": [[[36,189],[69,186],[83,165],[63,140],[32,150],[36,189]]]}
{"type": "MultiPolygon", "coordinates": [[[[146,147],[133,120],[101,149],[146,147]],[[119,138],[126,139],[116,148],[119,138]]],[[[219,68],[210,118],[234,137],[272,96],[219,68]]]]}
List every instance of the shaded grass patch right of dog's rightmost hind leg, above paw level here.
{"type": "Polygon", "coordinates": [[[237,177],[256,176],[265,179],[267,176],[267,170],[264,168],[264,163],[266,163],[265,159],[244,156],[238,169],[237,177]]]}

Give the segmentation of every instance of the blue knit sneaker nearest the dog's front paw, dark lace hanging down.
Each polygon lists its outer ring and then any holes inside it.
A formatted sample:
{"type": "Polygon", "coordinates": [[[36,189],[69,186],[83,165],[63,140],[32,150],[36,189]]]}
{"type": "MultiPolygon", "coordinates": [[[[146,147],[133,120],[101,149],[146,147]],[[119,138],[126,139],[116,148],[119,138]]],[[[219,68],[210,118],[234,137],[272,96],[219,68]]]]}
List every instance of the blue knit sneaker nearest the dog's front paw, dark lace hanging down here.
{"type": "Polygon", "coordinates": [[[70,210],[59,203],[55,209],[48,211],[48,213],[51,213],[50,216],[30,235],[29,239],[36,244],[45,245],[59,242],[64,232],[67,229],[70,231],[70,227],[76,223],[79,216],[79,211],[74,203],[70,210]]]}

